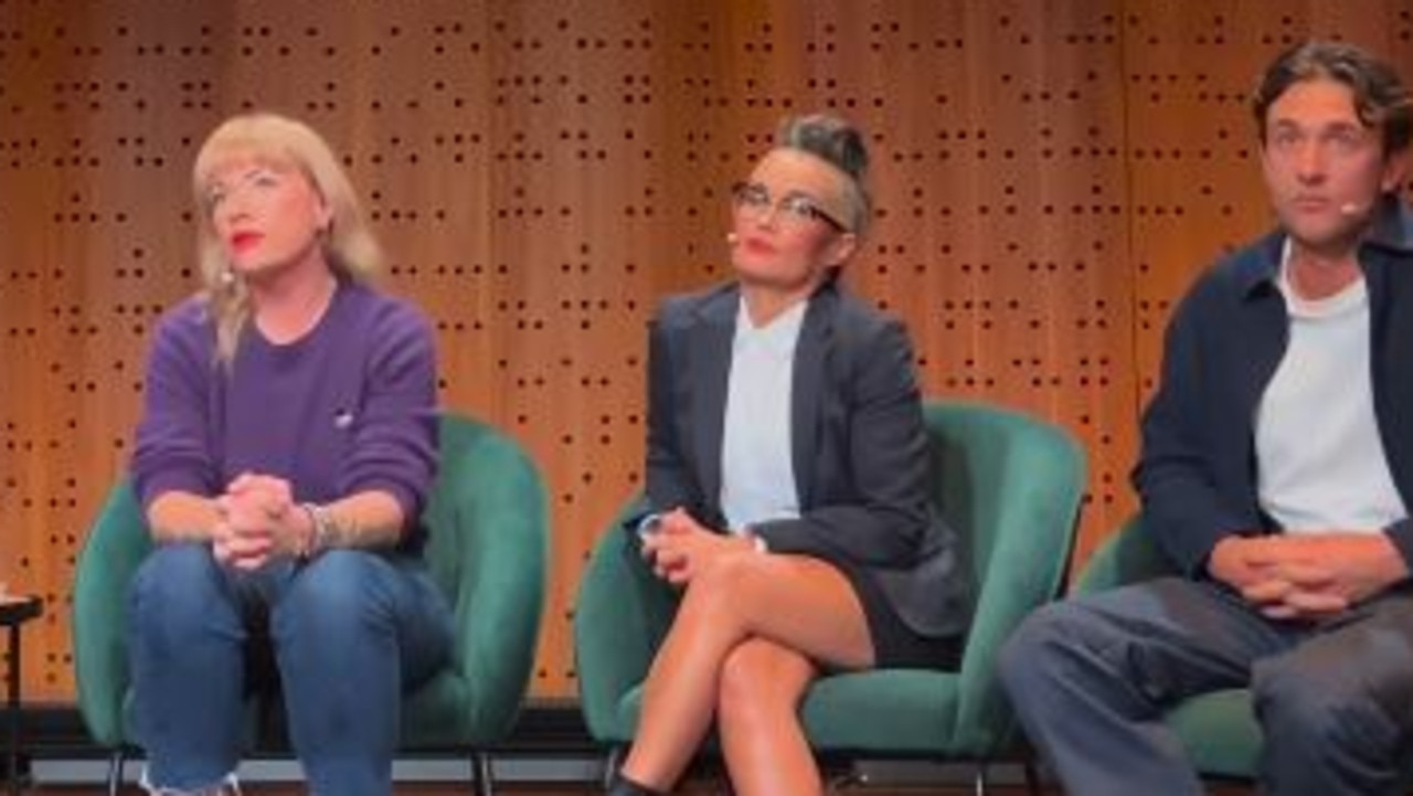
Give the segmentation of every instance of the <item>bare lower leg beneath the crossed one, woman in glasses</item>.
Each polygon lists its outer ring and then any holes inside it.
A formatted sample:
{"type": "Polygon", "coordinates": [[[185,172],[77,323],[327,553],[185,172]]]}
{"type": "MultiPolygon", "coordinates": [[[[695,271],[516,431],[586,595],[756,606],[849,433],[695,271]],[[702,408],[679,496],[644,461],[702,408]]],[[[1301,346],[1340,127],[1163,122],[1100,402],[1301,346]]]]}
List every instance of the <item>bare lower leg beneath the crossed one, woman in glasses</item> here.
{"type": "Polygon", "coordinates": [[[736,796],[824,792],[797,713],[817,674],[808,657],[759,638],[726,656],[716,727],[736,796]]]}

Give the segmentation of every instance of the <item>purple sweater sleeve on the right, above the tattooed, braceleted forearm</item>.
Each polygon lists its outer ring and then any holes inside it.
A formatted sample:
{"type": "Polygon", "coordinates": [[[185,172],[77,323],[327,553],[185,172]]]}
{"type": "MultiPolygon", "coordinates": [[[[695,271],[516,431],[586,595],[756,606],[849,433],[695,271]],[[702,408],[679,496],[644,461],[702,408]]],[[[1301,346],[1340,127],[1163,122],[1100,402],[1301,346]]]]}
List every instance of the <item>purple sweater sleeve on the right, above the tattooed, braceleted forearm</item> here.
{"type": "Polygon", "coordinates": [[[341,495],[383,491],[404,522],[421,516],[437,476],[437,355],[427,320],[387,303],[369,339],[365,403],[341,495]]]}

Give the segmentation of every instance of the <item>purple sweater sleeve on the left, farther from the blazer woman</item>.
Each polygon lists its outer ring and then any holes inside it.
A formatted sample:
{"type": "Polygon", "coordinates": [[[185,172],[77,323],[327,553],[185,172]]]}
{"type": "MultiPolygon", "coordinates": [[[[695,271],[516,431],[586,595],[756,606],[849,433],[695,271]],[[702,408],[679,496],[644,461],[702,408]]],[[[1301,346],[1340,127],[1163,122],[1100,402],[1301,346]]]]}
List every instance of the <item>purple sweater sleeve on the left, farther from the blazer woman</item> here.
{"type": "Polygon", "coordinates": [[[165,492],[211,496],[220,489],[209,417],[218,377],[213,342],[196,301],[174,308],[157,325],[131,461],[144,510],[165,492]]]}

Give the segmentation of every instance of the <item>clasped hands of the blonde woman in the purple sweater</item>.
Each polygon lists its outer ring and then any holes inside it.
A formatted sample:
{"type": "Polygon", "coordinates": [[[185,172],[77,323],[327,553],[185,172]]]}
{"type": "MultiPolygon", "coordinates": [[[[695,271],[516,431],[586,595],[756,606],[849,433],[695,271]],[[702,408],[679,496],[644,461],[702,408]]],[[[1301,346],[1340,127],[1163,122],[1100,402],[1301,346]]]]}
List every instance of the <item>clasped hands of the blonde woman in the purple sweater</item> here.
{"type": "Polygon", "coordinates": [[[222,564],[259,570],[270,558],[308,549],[314,519],[294,501],[290,482],[243,472],[215,499],[211,549],[222,564]]]}

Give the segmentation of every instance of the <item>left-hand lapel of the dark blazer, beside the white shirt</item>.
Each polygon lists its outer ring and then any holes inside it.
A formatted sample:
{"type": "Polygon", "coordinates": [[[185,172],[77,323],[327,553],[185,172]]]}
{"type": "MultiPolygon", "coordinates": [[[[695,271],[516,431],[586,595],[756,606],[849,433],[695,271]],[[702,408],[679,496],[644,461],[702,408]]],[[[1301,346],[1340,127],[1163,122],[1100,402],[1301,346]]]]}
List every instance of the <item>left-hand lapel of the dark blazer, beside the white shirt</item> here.
{"type": "Polygon", "coordinates": [[[692,334],[690,372],[691,394],[699,396],[695,430],[697,472],[702,496],[721,513],[721,444],[726,426],[726,386],[731,379],[731,346],[736,336],[739,293],[726,290],[699,311],[701,327],[692,334]]]}

